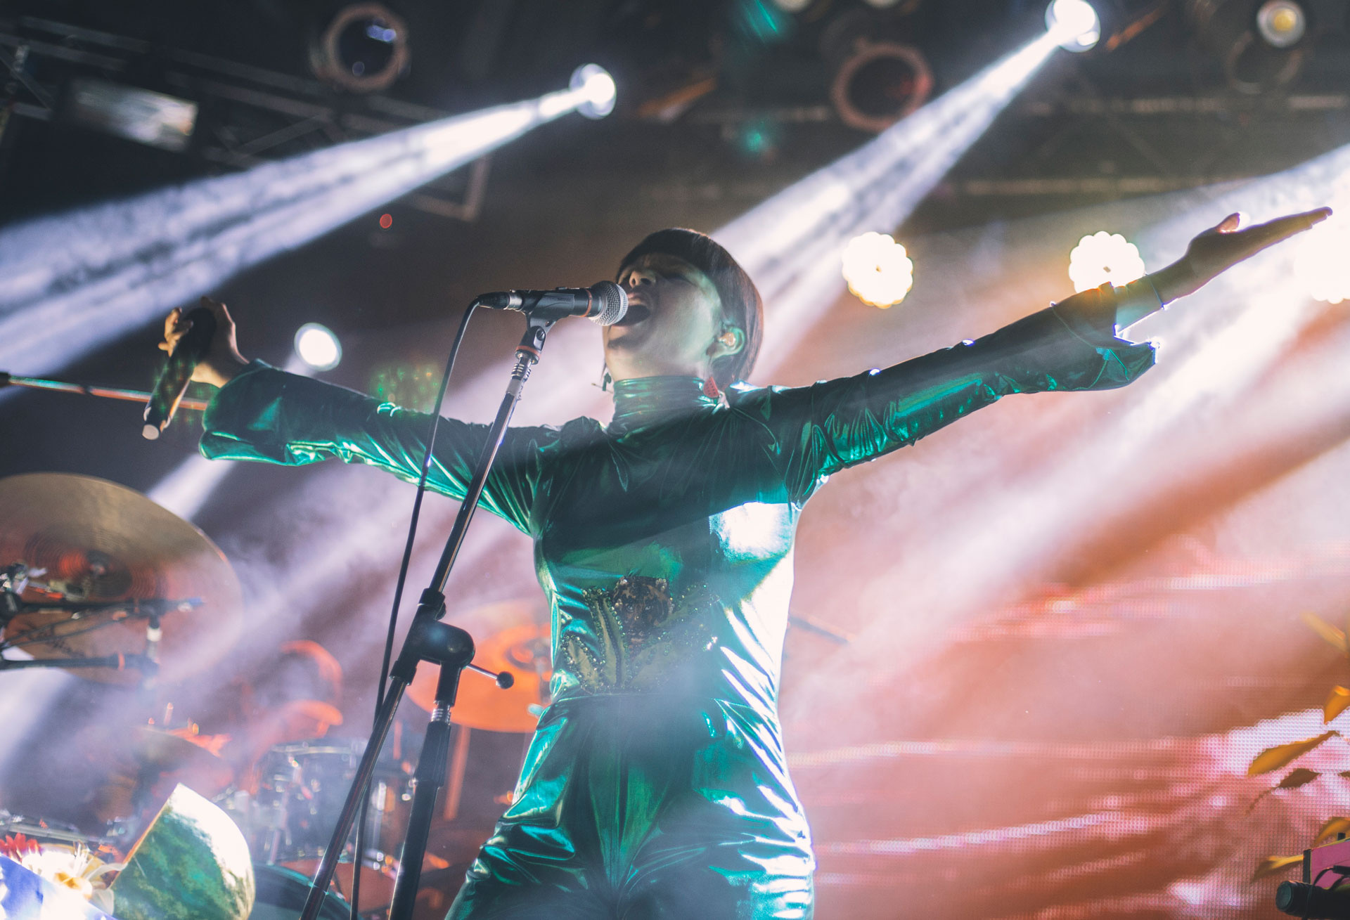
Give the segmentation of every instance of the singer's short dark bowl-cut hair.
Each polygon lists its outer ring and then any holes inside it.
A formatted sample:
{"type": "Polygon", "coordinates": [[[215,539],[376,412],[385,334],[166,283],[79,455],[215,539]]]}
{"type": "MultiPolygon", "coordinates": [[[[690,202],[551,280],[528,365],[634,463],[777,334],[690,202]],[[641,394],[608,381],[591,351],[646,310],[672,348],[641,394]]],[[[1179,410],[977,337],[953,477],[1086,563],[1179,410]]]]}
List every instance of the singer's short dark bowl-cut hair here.
{"type": "Polygon", "coordinates": [[[744,380],[755,367],[764,340],[764,301],[749,274],[706,233],[672,227],[649,233],[618,263],[618,274],[644,255],[660,252],[690,263],[713,282],[722,299],[722,317],[745,333],[744,347],[713,362],[713,380],[722,390],[744,380]]]}

